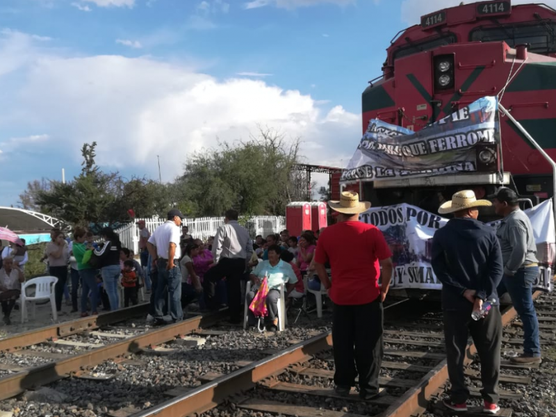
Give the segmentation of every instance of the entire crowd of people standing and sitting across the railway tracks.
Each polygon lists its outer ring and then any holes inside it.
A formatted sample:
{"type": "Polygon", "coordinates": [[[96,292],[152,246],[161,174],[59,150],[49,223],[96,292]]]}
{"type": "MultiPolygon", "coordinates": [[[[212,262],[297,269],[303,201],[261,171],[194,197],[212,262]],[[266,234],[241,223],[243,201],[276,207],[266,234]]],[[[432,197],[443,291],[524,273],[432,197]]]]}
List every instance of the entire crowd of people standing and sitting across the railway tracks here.
{"type": "MultiPolygon", "coordinates": [[[[508,293],[523,322],[523,353],[514,363],[540,363],[539,324],[532,301],[532,286],[539,274],[532,224],[518,205],[518,196],[500,188],[488,200],[477,200],[471,190],[462,190],[444,202],[441,214],[453,218],[432,241],[432,268],[442,282],[443,322],[451,382],[448,409],[466,411],[469,391],[464,377],[464,352],[471,333],[481,360],[483,411],[497,414],[502,324],[499,295],[508,293]],[[494,229],[477,220],[481,206],[493,205],[502,220],[494,229]]],[[[393,271],[392,254],[384,235],[372,224],[359,222],[359,214],[370,203],[359,202],[357,193],[343,192],[329,202],[335,224],[316,233],[303,231],[290,236],[256,236],[254,240],[238,223],[238,212],[225,213],[224,224],[208,240],[195,239],[183,214],[167,213],[167,221],[152,233],[145,222],[140,230],[140,263],[131,250],[122,247],[110,228],[101,231],[97,245],[89,231],[77,227],[73,240],[53,229],[44,256],[50,275],[58,277],[56,308],[62,306],[68,275],[72,281],[72,311],[78,309],[76,288],[81,286],[81,315],[97,314],[120,306],[119,288],[124,288],[124,306],[137,304],[138,288],[151,293],[149,315],[156,324],[170,316],[183,319],[183,309],[197,304],[202,310],[226,305],[229,321],[243,320],[243,303],[251,304],[266,279],[266,329],[279,325],[281,288],[288,301],[306,295],[306,289],[327,291],[334,305],[332,338],[336,393],[348,395],[359,377],[359,395],[375,398],[383,349],[383,307],[393,271]],[[180,229],[181,227],[181,229],[180,229]],[[349,244],[347,244],[349,243],[349,244]],[[70,263],[71,273],[67,266],[70,263]],[[332,271],[332,277],[329,275],[332,271]],[[305,288],[304,277],[307,278],[305,288]],[[250,291],[242,299],[241,282],[250,280],[250,291]]],[[[22,242],[19,242],[22,243],[22,242]]],[[[26,260],[24,243],[2,251],[0,301],[4,321],[19,296],[26,260]],[[6,252],[6,253],[4,253],[6,252]]],[[[247,318],[257,325],[253,311],[247,318]]],[[[256,326],[260,328],[259,325],[256,326]]]]}

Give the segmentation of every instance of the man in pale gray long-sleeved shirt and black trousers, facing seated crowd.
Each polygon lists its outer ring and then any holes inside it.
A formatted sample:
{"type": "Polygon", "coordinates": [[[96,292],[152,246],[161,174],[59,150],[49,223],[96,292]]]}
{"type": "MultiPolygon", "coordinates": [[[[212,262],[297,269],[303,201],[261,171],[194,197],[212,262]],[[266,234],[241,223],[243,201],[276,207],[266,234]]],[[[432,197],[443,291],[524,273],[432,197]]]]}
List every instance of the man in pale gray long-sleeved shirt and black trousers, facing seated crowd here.
{"type": "Polygon", "coordinates": [[[206,305],[218,309],[215,305],[216,284],[226,277],[229,321],[239,323],[242,304],[240,281],[253,253],[253,240],[249,231],[238,223],[237,211],[228,210],[225,213],[224,225],[216,232],[212,252],[215,265],[206,272],[203,282],[206,305]]]}

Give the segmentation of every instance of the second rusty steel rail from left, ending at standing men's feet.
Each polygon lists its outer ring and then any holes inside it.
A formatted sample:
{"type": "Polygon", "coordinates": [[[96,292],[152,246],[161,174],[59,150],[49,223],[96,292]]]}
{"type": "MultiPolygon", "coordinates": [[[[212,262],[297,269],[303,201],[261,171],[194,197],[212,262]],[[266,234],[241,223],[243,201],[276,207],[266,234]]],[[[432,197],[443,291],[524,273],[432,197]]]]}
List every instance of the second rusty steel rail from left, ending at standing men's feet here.
{"type": "Polygon", "coordinates": [[[70,377],[79,370],[99,365],[108,359],[114,359],[124,354],[138,352],[149,345],[158,345],[171,341],[172,339],[192,334],[202,325],[211,325],[214,321],[223,317],[222,311],[206,317],[195,316],[188,320],[166,325],[159,329],[153,329],[138,336],[130,336],[123,341],[111,343],[83,354],[76,354],[42,366],[30,368],[8,377],[0,379],[0,400],[6,400],[26,389],[34,389],[37,386],[50,384],[58,379],[70,377]]]}

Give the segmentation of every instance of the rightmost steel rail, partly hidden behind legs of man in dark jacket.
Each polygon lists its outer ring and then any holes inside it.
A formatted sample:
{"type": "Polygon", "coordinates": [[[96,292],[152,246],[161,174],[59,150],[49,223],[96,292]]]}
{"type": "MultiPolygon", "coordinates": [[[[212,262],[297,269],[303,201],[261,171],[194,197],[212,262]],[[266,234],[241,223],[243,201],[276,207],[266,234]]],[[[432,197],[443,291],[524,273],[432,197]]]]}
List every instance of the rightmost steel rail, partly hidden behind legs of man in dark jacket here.
{"type": "MultiPolygon", "coordinates": [[[[541,291],[535,291],[533,300],[542,294],[541,291]]],[[[517,312],[514,307],[508,307],[502,313],[502,327],[505,327],[517,317],[517,312]]],[[[477,353],[477,348],[473,343],[468,345],[466,350],[466,357],[464,359],[464,366],[467,366],[473,361],[473,355],[477,353]]],[[[381,417],[410,417],[416,414],[423,413],[427,406],[434,397],[441,391],[441,387],[448,381],[448,363],[444,359],[430,370],[420,382],[409,391],[406,391],[397,401],[393,402],[382,414],[381,417]]]]}

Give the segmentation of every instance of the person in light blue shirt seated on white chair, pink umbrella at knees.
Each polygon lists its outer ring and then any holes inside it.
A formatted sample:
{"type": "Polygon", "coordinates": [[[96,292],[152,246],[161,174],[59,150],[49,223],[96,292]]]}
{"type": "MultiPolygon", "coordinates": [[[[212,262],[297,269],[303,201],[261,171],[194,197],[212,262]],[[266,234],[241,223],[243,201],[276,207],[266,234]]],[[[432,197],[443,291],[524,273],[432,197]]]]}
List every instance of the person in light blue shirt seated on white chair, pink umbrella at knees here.
{"type": "MultiPolygon", "coordinates": [[[[291,266],[281,261],[280,254],[282,250],[278,245],[268,247],[268,261],[262,261],[250,275],[252,281],[252,288],[245,296],[247,305],[253,301],[256,289],[255,285],[261,284],[261,281],[266,276],[268,279],[268,295],[266,296],[266,306],[268,309],[268,325],[267,329],[271,332],[278,330],[278,299],[280,298],[280,286],[287,284],[286,297],[295,288],[297,277],[291,266]]],[[[250,326],[256,325],[256,319],[251,310],[248,310],[248,322],[250,326]]]]}

